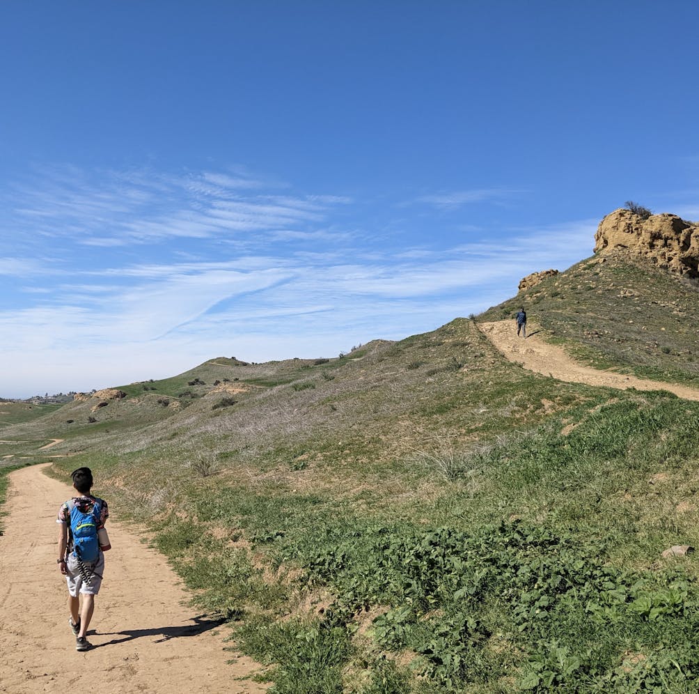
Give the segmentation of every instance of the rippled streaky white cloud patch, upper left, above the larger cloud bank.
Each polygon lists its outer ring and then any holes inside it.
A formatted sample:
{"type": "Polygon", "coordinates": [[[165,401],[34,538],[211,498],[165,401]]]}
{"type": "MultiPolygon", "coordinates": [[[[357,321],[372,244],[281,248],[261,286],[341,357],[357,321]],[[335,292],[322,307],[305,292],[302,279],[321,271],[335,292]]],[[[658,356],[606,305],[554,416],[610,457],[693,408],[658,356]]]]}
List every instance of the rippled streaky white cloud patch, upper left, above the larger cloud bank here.
{"type": "Polygon", "coordinates": [[[241,175],[148,173],[40,171],[15,186],[6,209],[20,231],[106,248],[289,227],[308,232],[332,206],[346,204],[342,197],[280,195],[241,175]]]}

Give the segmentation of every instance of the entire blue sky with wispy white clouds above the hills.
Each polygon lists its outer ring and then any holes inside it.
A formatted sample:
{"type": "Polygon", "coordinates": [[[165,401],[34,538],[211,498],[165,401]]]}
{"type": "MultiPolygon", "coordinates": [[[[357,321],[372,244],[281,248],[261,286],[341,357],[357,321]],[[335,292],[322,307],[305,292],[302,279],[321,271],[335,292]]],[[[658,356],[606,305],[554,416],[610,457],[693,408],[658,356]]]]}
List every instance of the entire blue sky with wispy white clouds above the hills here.
{"type": "Polygon", "coordinates": [[[699,218],[699,4],[0,4],[0,396],[335,356],[699,218]]]}

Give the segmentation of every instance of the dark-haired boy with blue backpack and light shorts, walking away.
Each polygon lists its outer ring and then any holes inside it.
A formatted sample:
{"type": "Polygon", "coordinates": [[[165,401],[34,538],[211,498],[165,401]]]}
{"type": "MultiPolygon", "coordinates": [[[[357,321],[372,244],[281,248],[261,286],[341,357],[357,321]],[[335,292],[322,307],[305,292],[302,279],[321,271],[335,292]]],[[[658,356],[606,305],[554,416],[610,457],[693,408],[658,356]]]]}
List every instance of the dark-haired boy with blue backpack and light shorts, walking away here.
{"type": "Polygon", "coordinates": [[[103,499],[90,494],[92,471],[89,467],[79,467],[71,476],[79,496],[64,502],[58,511],[56,562],[68,583],[69,625],[75,635],[75,650],[87,651],[92,648],[86,635],[94,611],[94,596],[102,583],[103,552],[111,546],[104,530],[109,510],[103,499]]]}

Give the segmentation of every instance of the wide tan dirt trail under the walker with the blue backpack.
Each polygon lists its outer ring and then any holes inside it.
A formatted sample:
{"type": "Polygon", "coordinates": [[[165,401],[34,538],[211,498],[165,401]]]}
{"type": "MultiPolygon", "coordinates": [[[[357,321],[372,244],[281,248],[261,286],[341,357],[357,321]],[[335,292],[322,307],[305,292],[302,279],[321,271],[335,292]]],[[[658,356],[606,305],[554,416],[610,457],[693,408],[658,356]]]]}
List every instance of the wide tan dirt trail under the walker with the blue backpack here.
{"type": "Polygon", "coordinates": [[[108,523],[113,548],[88,634],[95,647],[75,651],[55,523],[72,488],[43,467],[10,474],[0,537],[0,692],[266,691],[241,681],[259,665],[223,650],[227,630],[185,607],[187,594],[164,558],[118,523],[108,523]]]}

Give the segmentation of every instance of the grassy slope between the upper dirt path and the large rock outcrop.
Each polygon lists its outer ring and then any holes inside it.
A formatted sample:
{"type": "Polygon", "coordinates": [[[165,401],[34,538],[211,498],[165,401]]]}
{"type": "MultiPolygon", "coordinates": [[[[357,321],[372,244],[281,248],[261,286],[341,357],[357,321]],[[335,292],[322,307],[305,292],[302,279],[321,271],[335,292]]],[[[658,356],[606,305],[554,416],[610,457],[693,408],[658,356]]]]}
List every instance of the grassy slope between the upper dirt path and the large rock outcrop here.
{"type": "Polygon", "coordinates": [[[478,320],[525,306],[549,339],[598,369],[699,384],[699,285],[624,255],[593,257],[494,306],[478,320]]]}

